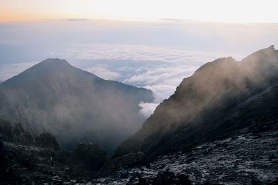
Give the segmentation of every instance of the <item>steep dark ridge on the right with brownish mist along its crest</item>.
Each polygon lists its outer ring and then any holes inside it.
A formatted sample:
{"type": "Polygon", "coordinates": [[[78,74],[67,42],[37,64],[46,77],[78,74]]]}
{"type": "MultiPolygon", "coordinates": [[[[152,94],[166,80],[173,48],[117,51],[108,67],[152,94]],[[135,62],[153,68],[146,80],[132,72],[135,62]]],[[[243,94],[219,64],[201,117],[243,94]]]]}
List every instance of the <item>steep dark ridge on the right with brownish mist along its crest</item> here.
{"type": "Polygon", "coordinates": [[[274,46],[240,62],[220,58],[183,79],[115,157],[157,155],[247,132],[278,129],[278,51],[274,46]]]}

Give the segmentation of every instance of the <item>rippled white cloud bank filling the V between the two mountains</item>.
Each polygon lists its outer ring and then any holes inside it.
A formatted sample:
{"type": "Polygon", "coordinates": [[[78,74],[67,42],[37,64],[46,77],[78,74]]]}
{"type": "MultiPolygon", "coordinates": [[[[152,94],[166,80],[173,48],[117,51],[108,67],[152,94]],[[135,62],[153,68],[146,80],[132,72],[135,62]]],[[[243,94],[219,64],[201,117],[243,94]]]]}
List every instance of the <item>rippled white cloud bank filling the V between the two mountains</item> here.
{"type": "Polygon", "coordinates": [[[205,62],[223,57],[217,53],[166,49],[124,44],[76,45],[64,51],[76,67],[106,79],[151,89],[154,103],[140,103],[146,117],[172,94],[183,78],[193,74],[205,62]],[[85,62],[80,62],[83,60],[85,62]]]}

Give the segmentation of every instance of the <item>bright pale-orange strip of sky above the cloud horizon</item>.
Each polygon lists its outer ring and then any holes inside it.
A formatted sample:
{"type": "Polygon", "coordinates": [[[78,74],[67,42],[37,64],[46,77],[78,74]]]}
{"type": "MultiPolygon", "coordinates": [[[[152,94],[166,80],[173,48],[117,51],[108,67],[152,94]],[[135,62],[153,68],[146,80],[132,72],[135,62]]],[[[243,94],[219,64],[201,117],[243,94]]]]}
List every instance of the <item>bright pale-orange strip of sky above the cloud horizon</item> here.
{"type": "Polygon", "coordinates": [[[277,0],[0,0],[0,21],[112,19],[277,23],[277,0]]]}

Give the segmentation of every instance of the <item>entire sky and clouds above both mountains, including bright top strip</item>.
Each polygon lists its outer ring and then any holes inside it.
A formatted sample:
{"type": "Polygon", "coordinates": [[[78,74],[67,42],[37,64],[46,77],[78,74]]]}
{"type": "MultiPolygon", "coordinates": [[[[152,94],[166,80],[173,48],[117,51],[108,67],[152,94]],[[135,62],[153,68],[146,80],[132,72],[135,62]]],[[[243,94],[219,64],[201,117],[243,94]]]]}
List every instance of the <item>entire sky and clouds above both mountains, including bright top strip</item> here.
{"type": "Polygon", "coordinates": [[[206,62],[278,44],[276,2],[0,0],[0,82],[46,58],[151,89],[152,114],[206,62]]]}

